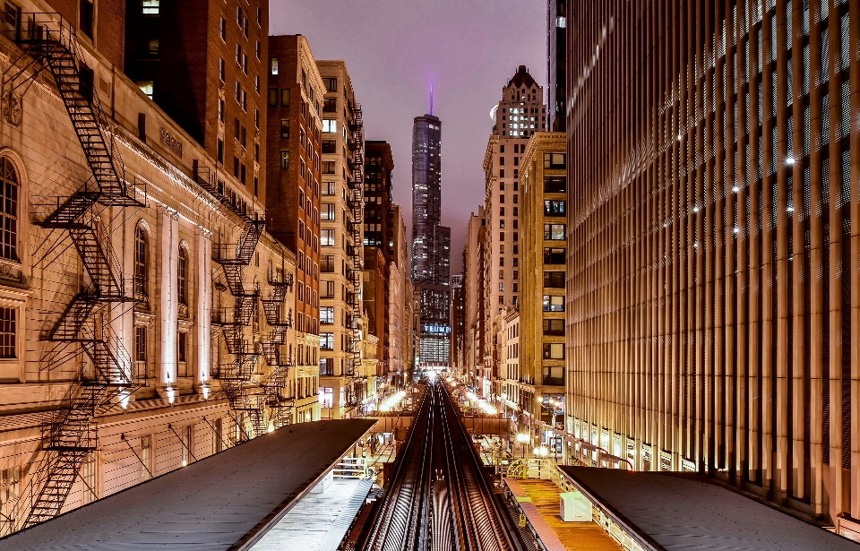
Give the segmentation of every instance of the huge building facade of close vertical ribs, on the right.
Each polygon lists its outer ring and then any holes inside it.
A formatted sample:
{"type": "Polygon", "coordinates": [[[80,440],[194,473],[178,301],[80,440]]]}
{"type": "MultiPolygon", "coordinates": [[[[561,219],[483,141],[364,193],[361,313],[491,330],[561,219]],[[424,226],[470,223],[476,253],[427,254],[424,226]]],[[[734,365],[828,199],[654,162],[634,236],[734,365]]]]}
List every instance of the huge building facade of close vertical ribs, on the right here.
{"type": "Polygon", "coordinates": [[[860,529],[860,2],[569,12],[575,452],[860,529]]]}

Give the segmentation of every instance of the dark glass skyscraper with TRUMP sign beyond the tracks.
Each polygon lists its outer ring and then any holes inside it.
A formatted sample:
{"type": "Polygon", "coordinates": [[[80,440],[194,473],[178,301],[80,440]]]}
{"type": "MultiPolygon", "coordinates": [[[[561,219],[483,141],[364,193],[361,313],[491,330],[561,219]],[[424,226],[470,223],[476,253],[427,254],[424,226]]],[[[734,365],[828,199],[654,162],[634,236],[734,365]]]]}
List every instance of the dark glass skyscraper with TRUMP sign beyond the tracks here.
{"type": "Polygon", "coordinates": [[[421,300],[419,366],[451,358],[451,228],[442,221],[442,122],[417,116],[412,126],[412,280],[421,300]]]}

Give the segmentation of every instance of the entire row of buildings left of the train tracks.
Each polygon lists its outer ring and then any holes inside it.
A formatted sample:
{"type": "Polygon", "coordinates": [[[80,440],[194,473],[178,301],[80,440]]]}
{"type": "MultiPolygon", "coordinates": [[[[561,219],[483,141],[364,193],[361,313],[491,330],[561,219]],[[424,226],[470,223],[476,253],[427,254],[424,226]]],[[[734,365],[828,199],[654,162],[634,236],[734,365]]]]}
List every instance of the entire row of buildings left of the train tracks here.
{"type": "Polygon", "coordinates": [[[265,0],[6,2],[0,536],[409,378],[360,90],[265,0]]]}

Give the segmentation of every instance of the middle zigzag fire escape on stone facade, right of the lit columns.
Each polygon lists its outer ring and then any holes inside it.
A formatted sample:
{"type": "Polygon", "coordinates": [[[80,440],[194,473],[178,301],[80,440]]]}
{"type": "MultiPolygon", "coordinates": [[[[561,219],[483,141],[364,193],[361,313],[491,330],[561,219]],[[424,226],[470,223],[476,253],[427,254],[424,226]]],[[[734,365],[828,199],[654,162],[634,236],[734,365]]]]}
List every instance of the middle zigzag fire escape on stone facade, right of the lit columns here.
{"type": "MultiPolygon", "coordinates": [[[[254,383],[259,352],[254,342],[245,338],[245,329],[257,314],[257,300],[260,288],[256,282],[245,282],[245,267],[254,259],[254,251],[266,225],[261,211],[252,211],[229,192],[226,183],[219,179],[209,168],[201,167],[195,160],[193,177],[197,184],[215,197],[228,211],[233,212],[245,224],[242,237],[237,243],[212,245],[212,261],[219,264],[227,281],[227,288],[233,297],[233,306],[212,309],[212,325],[220,327],[220,334],[232,359],[221,362],[214,375],[221,383],[220,394],[228,399],[231,416],[240,427],[240,439],[245,441],[266,432],[263,414],[263,395],[254,383]],[[246,422],[251,424],[254,434],[246,430],[246,422]]],[[[213,331],[212,338],[218,338],[213,331]]]]}

